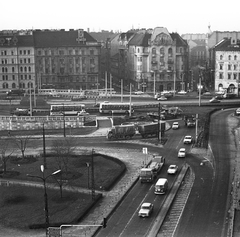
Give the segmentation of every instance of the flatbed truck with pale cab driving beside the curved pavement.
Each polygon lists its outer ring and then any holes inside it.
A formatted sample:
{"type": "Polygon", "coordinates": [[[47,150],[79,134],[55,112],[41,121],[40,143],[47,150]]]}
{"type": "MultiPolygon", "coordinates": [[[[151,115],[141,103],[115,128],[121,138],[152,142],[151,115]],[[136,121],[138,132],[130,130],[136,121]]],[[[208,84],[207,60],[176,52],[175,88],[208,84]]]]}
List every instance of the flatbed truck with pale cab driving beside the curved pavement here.
{"type": "Polygon", "coordinates": [[[146,167],[143,167],[140,171],[140,181],[144,182],[153,182],[157,177],[157,174],[165,164],[165,158],[163,156],[154,156],[149,164],[146,167]]]}

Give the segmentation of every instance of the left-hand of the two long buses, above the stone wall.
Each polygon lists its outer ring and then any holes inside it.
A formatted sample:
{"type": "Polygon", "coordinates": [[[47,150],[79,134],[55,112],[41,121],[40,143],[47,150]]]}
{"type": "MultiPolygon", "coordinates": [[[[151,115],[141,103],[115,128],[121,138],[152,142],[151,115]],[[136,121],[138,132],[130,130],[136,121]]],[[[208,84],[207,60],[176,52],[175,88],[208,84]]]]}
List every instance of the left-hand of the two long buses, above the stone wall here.
{"type": "Polygon", "coordinates": [[[51,116],[80,116],[86,115],[84,104],[58,104],[51,105],[50,115],[51,116]]]}

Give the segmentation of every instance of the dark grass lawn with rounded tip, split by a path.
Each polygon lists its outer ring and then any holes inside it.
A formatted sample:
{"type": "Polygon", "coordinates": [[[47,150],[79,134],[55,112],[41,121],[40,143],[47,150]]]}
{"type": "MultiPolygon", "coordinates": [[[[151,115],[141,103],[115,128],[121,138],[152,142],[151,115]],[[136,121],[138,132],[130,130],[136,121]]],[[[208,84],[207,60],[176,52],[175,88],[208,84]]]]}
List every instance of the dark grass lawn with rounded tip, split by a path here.
{"type": "MultiPolygon", "coordinates": [[[[77,220],[92,205],[91,196],[91,167],[88,170],[86,163],[91,164],[91,155],[72,156],[67,161],[67,168],[49,177],[47,183],[51,182],[55,189],[47,188],[48,207],[50,223],[72,223],[77,220]],[[63,192],[61,192],[56,179],[64,180],[63,192]],[[83,187],[89,193],[69,192],[64,187],[83,187]]],[[[30,159],[31,160],[31,159],[30,159]]],[[[58,170],[58,162],[55,157],[47,157],[47,169],[45,177],[58,170]]],[[[8,162],[7,174],[3,178],[27,180],[33,182],[42,181],[38,178],[27,177],[26,174],[42,177],[40,165],[42,158],[32,158],[31,162],[16,162],[12,159],[8,162]]],[[[94,187],[102,190],[111,186],[124,171],[125,166],[109,157],[99,154],[94,155],[94,187]]],[[[2,175],[2,174],[1,174],[2,175]]],[[[5,227],[28,228],[33,224],[45,223],[44,212],[44,190],[21,185],[0,186],[0,223],[5,227]]],[[[43,225],[44,227],[44,225],[43,225]]]]}

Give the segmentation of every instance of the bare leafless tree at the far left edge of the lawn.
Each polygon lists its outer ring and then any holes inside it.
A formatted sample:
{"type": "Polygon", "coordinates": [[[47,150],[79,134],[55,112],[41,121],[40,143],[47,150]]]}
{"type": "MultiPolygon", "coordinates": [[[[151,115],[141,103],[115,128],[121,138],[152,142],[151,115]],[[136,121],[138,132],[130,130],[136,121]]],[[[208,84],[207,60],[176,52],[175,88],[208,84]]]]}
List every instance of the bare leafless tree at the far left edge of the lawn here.
{"type": "Polygon", "coordinates": [[[14,152],[14,148],[12,148],[10,144],[11,139],[9,138],[0,139],[0,155],[1,162],[3,164],[3,174],[7,172],[7,162],[10,159],[12,153],[14,152]]]}

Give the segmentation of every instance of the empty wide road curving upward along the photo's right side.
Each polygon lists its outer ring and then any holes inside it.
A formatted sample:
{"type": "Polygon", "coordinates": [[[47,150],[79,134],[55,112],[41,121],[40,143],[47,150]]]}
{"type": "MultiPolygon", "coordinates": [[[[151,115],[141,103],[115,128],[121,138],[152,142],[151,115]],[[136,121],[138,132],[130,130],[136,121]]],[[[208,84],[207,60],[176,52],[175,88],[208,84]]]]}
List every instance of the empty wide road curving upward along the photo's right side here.
{"type": "Polygon", "coordinates": [[[227,212],[233,170],[230,169],[230,164],[234,161],[234,138],[229,122],[232,114],[233,110],[226,110],[212,115],[209,144],[214,156],[214,172],[211,174],[209,163],[200,166],[198,161],[189,161],[196,179],[176,237],[227,236],[227,212]]]}

